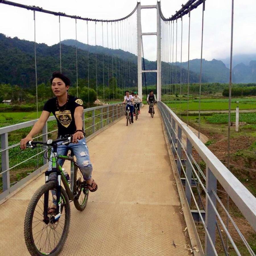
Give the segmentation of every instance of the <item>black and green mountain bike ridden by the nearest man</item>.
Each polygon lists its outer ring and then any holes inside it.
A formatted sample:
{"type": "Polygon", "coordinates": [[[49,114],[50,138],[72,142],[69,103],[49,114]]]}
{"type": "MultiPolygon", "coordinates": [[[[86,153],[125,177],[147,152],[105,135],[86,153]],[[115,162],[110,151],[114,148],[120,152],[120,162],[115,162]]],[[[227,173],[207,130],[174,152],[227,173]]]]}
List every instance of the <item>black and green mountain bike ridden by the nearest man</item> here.
{"type": "Polygon", "coordinates": [[[74,202],[77,210],[82,211],[86,207],[89,189],[73,152],[68,156],[57,155],[57,147],[71,143],[72,139],[64,137],[55,141],[28,142],[27,147],[36,148],[37,144],[41,144],[52,150],[52,170],[45,172],[45,184],[32,196],[25,216],[24,236],[31,255],[57,255],[69,233],[70,201],[74,202]],[[63,172],[58,159],[71,162],[70,178],[63,172]],[[49,177],[51,173],[56,173],[54,179],[49,177]]]}

